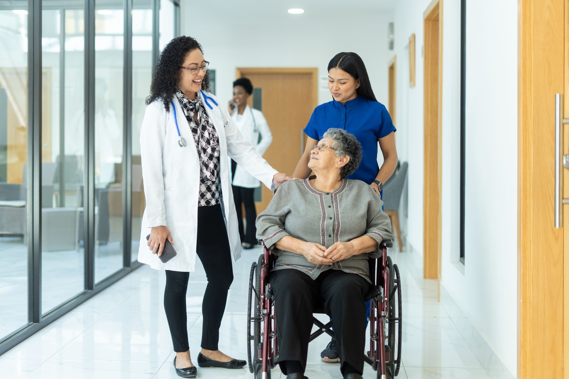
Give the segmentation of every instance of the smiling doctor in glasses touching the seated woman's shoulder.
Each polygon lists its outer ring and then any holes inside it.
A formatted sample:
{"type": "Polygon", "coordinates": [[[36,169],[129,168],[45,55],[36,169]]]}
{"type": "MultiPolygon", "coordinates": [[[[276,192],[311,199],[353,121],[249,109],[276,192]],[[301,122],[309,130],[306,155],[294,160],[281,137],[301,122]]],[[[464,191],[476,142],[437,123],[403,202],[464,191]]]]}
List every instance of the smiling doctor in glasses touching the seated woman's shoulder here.
{"type": "Polygon", "coordinates": [[[191,37],[170,41],[152,76],[141,129],[146,209],[138,260],[166,270],[164,309],[178,376],[197,374],[189,354],[185,293],[196,253],[208,284],[202,303],[200,367],[241,368],[244,360],[218,350],[219,328],[229,286],[232,257],[241,255],[228,156],[269,188],[291,179],[262,159],[218,106],[209,89],[208,62],[191,37]],[[146,236],[149,235],[148,241],[146,236]],[[177,255],[162,263],[166,239],[177,255]]]}

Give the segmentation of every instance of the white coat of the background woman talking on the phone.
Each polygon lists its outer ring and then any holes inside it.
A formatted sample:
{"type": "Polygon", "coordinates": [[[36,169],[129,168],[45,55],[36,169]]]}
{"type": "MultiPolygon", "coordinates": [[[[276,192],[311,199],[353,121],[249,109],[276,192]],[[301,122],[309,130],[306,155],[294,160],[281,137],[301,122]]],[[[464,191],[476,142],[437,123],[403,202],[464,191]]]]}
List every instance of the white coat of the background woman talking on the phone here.
{"type": "MultiPolygon", "coordinates": [[[[238,109],[235,108],[231,114],[233,120],[237,118],[237,115],[238,109]]],[[[269,148],[269,145],[273,141],[273,135],[271,134],[267,120],[265,120],[265,116],[263,116],[261,111],[250,108],[246,105],[245,111],[241,115],[240,122],[236,122],[236,124],[245,139],[251,145],[257,147],[259,154],[265,154],[267,148],[269,148]],[[260,142],[259,134],[261,135],[260,142]]],[[[246,172],[241,165],[237,165],[237,168],[235,169],[235,176],[233,177],[233,185],[244,188],[257,188],[261,185],[261,182],[259,182],[259,180],[253,175],[246,172]]]]}

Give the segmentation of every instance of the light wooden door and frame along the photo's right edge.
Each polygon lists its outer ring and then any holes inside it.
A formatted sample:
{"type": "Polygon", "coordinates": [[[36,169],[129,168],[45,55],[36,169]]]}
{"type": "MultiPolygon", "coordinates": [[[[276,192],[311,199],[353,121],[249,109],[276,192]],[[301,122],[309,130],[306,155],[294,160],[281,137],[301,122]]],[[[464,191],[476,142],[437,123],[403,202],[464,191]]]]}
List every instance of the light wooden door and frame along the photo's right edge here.
{"type": "Polygon", "coordinates": [[[518,0],[518,379],[569,378],[569,209],[556,229],[553,188],[555,93],[569,95],[568,9],[569,0],[518,0]]]}

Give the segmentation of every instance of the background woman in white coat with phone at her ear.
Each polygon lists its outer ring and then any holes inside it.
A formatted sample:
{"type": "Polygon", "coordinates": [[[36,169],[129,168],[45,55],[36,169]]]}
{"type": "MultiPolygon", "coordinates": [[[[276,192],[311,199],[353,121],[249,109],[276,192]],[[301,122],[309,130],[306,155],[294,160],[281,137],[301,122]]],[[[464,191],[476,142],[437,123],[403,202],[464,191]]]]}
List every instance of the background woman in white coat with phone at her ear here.
{"type": "MultiPolygon", "coordinates": [[[[261,111],[247,105],[247,99],[253,93],[253,85],[248,78],[239,78],[233,82],[233,99],[229,102],[231,118],[237,124],[241,134],[253,146],[259,154],[265,154],[273,141],[273,135],[261,111]],[[233,109],[232,109],[233,106],[233,109]],[[259,141],[259,136],[261,140],[259,141]]],[[[241,247],[251,249],[255,246],[257,238],[257,210],[253,198],[255,188],[261,185],[258,179],[246,172],[236,161],[231,160],[231,172],[233,173],[233,199],[239,223],[239,236],[241,247]],[[243,214],[241,204],[245,208],[245,230],[243,228],[243,214]]]]}

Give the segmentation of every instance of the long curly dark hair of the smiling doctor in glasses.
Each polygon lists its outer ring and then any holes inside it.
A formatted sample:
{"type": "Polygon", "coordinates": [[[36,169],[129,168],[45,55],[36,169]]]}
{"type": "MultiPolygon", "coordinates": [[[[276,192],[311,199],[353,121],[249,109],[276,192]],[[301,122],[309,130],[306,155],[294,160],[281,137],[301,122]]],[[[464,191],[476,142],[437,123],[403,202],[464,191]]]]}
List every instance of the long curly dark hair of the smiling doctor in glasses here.
{"type": "MultiPolygon", "coordinates": [[[[176,37],[168,42],[160,53],[156,69],[152,74],[150,95],[146,98],[146,105],[156,99],[162,99],[164,108],[170,110],[170,101],[178,91],[178,83],[182,76],[182,64],[188,53],[194,49],[200,49],[202,54],[204,52],[201,45],[188,36],[176,37]]],[[[209,72],[206,72],[201,80],[201,88],[209,92],[209,72]]]]}

